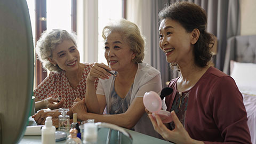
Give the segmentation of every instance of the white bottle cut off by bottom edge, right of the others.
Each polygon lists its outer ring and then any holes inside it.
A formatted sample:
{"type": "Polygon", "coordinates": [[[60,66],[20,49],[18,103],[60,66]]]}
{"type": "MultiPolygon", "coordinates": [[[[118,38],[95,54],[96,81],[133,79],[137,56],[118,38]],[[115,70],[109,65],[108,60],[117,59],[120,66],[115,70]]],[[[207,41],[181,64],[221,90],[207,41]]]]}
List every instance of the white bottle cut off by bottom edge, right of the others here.
{"type": "Polygon", "coordinates": [[[84,124],[84,144],[96,144],[98,137],[98,127],[94,123],[84,124]]]}

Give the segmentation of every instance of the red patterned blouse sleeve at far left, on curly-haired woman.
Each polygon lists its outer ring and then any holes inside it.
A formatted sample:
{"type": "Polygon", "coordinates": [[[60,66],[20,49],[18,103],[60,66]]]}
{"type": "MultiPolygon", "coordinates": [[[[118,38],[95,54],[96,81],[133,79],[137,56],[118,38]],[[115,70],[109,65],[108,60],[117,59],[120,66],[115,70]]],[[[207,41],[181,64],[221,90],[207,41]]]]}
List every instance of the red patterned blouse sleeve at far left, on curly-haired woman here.
{"type": "Polygon", "coordinates": [[[54,75],[55,74],[51,72],[49,76],[47,76],[44,81],[36,87],[36,89],[34,90],[35,97],[43,100],[53,95],[55,84],[54,75]]]}

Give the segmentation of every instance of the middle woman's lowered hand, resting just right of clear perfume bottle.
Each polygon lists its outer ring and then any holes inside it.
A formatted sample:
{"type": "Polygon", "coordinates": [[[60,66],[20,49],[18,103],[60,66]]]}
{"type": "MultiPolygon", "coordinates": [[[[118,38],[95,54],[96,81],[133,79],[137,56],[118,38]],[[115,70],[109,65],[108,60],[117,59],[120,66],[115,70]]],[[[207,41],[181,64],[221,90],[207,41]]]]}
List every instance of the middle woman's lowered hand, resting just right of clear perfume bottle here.
{"type": "Polygon", "coordinates": [[[85,99],[83,100],[80,99],[79,101],[74,102],[72,106],[72,111],[73,111],[73,114],[74,113],[77,114],[77,119],[81,119],[85,121],[86,119],[84,118],[84,114],[87,113],[85,99]]]}

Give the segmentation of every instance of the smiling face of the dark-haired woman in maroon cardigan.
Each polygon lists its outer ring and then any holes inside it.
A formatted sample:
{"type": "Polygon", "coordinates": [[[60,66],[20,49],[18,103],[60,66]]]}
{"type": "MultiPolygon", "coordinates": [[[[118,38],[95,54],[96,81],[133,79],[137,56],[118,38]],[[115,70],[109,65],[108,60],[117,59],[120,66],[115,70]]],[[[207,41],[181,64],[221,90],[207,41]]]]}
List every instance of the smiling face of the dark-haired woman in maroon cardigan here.
{"type": "Polygon", "coordinates": [[[191,34],[179,22],[164,19],[159,26],[159,46],[169,63],[182,63],[193,58],[191,34]]]}

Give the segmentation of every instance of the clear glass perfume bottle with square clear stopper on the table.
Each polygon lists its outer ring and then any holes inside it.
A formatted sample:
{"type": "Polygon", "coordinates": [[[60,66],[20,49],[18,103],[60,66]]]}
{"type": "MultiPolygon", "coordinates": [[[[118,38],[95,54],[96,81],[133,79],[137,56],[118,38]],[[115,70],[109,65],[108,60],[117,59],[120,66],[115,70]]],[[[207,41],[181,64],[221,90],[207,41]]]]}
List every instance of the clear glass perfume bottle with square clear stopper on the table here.
{"type": "Polygon", "coordinates": [[[68,108],[59,108],[61,115],[59,115],[59,130],[68,131],[69,130],[69,115],[67,115],[68,108]]]}

